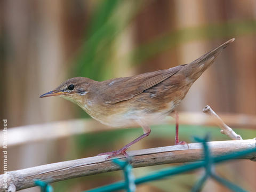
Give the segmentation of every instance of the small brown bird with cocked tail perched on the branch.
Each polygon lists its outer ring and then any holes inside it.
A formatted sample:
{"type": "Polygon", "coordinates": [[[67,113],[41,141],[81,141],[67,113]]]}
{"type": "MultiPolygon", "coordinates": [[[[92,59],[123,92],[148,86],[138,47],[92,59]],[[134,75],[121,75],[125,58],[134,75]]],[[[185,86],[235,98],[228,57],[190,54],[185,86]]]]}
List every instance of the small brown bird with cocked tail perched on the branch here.
{"type": "MultiPolygon", "coordinates": [[[[197,60],[170,69],[109,79],[103,82],[86,77],[74,77],[63,82],[53,91],[40,96],[59,96],[76,103],[92,118],[113,127],[139,125],[143,134],[123,148],[99,155],[107,158],[126,154],[127,148],[150,133],[150,124],[170,115],[187,94],[190,86],[215,61],[222,49],[235,39],[230,39],[197,60]]],[[[178,116],[175,145],[179,142],[178,116]]]]}

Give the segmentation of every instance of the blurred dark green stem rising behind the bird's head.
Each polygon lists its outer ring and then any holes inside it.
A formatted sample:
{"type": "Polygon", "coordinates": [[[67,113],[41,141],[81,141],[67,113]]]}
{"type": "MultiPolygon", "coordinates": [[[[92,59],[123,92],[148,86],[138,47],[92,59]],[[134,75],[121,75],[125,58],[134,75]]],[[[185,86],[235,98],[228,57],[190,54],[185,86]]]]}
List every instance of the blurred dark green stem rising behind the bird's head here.
{"type": "Polygon", "coordinates": [[[82,49],[76,62],[76,74],[86,76],[95,80],[101,78],[102,58],[109,54],[109,49],[102,50],[97,54],[103,41],[115,30],[115,25],[109,23],[109,18],[116,9],[120,1],[100,1],[98,7],[92,15],[90,21],[87,41],[82,45],[82,49]]]}

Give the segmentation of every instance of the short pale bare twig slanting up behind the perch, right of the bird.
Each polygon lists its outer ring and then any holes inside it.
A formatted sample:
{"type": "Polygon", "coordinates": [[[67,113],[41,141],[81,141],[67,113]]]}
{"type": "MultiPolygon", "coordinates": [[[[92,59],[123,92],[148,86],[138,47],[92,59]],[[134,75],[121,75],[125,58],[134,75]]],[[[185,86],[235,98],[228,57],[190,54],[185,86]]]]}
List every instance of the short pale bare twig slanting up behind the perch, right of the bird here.
{"type": "Polygon", "coordinates": [[[212,110],[210,106],[205,106],[203,109],[203,112],[210,115],[216,120],[216,124],[221,128],[220,132],[222,134],[226,134],[228,137],[230,137],[233,140],[242,140],[241,135],[238,135],[231,129],[228,125],[226,125],[222,119],[212,110]]]}

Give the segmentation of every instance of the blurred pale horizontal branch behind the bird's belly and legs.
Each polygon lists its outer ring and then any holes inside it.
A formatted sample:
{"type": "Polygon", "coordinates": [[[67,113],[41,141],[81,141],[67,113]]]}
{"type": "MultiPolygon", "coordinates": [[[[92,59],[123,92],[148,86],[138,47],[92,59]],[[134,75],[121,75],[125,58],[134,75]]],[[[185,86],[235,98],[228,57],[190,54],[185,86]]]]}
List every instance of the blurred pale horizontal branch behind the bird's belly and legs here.
{"type": "MultiPolygon", "coordinates": [[[[202,113],[179,113],[180,124],[214,125],[214,118],[202,113]]],[[[256,116],[242,114],[221,114],[223,121],[231,126],[256,127],[256,116]]],[[[174,124],[175,119],[167,117],[163,123],[174,124]]],[[[113,130],[115,128],[103,125],[93,119],[73,119],[36,125],[12,127],[8,129],[8,147],[23,143],[38,142],[51,139],[70,137],[71,135],[113,130]],[[76,127],[76,129],[74,129],[76,127]],[[51,133],[51,134],[49,134],[51,133]]],[[[0,143],[3,143],[3,133],[0,132],[0,143]]]]}

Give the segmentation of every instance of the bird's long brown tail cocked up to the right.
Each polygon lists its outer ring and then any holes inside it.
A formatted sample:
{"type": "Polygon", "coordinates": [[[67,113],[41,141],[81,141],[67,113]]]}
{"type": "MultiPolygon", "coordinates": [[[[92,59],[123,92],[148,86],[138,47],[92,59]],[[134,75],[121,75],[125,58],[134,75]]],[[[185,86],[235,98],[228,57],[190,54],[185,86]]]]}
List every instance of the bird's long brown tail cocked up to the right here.
{"type": "Polygon", "coordinates": [[[196,79],[202,75],[202,73],[212,65],[215,59],[218,57],[220,52],[225,49],[230,43],[234,42],[235,38],[230,39],[229,41],[223,43],[222,45],[218,46],[214,50],[204,54],[202,57],[196,59],[195,61],[187,64],[184,66],[179,72],[184,74],[186,77],[196,79]]]}

